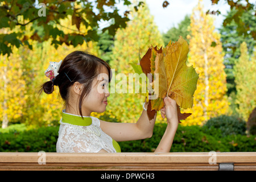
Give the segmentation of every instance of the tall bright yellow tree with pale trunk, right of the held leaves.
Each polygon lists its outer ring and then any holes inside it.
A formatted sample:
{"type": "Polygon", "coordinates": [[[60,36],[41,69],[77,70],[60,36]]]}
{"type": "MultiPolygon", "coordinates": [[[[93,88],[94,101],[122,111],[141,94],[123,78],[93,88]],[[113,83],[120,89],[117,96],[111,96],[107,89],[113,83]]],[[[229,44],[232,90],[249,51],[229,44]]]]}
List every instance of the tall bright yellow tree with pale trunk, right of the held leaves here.
{"type": "Polygon", "coordinates": [[[189,42],[189,64],[199,73],[197,89],[194,94],[192,113],[184,125],[201,125],[210,117],[225,114],[228,111],[226,93],[226,75],[220,34],[214,31],[213,18],[203,11],[201,1],[191,15],[191,39],[189,42]],[[212,42],[216,46],[212,46],[212,42]]]}

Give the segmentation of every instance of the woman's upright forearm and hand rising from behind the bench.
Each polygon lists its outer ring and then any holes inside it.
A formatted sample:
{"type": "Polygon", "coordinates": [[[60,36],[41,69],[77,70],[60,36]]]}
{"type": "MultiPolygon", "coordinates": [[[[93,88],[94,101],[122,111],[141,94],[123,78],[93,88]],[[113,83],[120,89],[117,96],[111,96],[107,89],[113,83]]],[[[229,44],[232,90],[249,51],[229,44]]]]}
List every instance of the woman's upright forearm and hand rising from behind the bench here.
{"type": "Polygon", "coordinates": [[[166,97],[164,98],[164,104],[164,108],[161,109],[161,115],[163,118],[165,118],[164,115],[166,115],[167,127],[155,152],[170,152],[172,142],[174,141],[174,136],[179,125],[176,101],[172,100],[170,97],[166,97]]]}

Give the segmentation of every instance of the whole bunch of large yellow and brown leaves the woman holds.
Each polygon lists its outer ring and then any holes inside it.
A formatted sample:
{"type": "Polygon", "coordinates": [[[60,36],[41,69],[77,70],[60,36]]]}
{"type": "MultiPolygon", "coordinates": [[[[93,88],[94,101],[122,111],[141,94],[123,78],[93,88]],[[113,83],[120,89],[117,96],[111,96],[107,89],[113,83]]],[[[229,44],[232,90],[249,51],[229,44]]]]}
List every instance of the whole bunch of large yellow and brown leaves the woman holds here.
{"type": "Polygon", "coordinates": [[[147,100],[147,113],[150,119],[156,111],[163,108],[163,98],[166,96],[176,101],[179,122],[191,115],[180,113],[180,107],[187,109],[193,106],[193,94],[199,78],[193,66],[187,67],[188,51],[188,43],[180,36],[177,42],[170,42],[166,48],[151,47],[142,57],[142,72],[146,75],[150,73],[153,78],[158,77],[151,82],[152,88],[158,86],[158,89],[154,88],[154,94],[158,98],[147,100]]]}

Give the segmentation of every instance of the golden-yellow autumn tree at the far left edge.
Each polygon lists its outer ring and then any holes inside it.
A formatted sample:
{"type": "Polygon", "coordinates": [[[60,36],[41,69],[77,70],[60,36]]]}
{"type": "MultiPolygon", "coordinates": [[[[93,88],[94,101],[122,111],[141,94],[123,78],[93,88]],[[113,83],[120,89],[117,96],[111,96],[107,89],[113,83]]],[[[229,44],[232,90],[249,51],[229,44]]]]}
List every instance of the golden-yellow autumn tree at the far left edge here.
{"type": "MultiPolygon", "coordinates": [[[[2,30],[3,31],[3,30],[2,30]]],[[[26,105],[26,84],[23,78],[22,53],[15,48],[15,55],[0,55],[0,121],[2,128],[17,122],[26,105]]]]}

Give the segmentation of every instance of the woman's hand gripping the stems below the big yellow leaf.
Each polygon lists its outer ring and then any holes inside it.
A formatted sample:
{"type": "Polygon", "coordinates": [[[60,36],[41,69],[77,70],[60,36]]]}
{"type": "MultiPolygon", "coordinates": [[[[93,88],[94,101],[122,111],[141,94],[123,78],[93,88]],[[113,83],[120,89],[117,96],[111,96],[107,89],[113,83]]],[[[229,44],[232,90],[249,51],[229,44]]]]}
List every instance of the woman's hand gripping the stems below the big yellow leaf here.
{"type": "Polygon", "coordinates": [[[164,98],[164,107],[160,109],[162,118],[167,118],[167,123],[177,125],[177,105],[176,101],[170,97],[164,98]]]}

